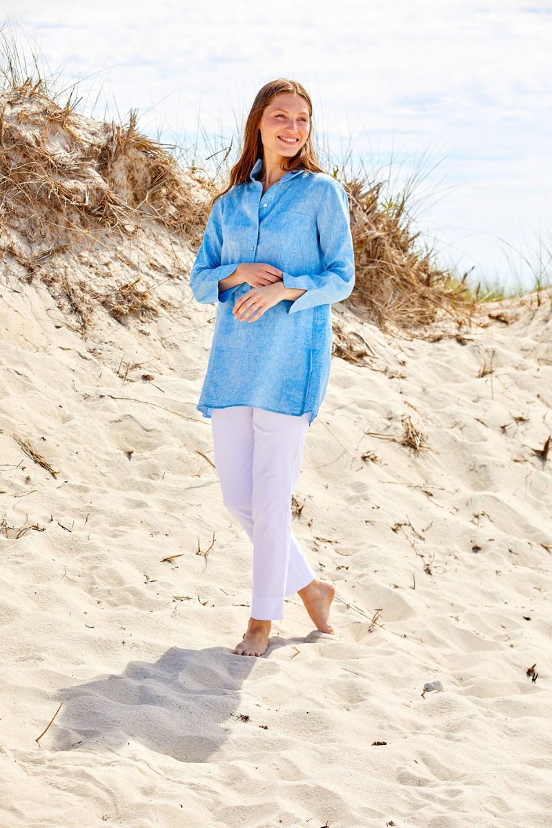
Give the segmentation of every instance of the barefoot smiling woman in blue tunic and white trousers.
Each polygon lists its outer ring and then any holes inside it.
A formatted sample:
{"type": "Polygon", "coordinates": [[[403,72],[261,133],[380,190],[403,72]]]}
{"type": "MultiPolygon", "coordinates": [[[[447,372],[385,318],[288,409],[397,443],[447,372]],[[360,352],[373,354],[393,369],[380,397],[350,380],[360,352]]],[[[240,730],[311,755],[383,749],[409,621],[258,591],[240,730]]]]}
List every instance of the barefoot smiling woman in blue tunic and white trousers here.
{"type": "Polygon", "coordinates": [[[295,592],[334,633],[334,586],[291,532],[306,431],[328,386],[331,303],[354,284],[348,198],[318,166],[311,118],[296,81],[259,90],[190,274],[195,299],[218,303],[197,408],[211,418],[223,502],[253,544],[251,618],[233,651],[245,656],[265,652],[295,592]]]}

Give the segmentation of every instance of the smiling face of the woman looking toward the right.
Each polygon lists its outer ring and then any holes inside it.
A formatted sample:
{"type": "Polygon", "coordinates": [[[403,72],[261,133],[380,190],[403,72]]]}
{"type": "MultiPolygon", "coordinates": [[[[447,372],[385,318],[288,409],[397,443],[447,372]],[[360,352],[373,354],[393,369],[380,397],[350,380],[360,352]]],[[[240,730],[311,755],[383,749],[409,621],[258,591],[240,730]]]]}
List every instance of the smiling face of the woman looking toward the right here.
{"type": "Polygon", "coordinates": [[[309,137],[309,104],[295,92],[281,92],[265,108],[259,128],[265,152],[295,156],[309,137]]]}

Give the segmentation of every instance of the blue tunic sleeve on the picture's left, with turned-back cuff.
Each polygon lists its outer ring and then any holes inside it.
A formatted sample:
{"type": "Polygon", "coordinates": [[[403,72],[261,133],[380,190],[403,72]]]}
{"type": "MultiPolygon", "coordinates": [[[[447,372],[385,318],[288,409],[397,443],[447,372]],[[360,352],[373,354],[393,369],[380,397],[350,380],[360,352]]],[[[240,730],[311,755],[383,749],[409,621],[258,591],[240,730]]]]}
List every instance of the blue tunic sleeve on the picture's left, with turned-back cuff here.
{"type": "Polygon", "coordinates": [[[211,209],[205,227],[203,241],[190,272],[190,287],[199,302],[225,302],[232,296],[238,285],[218,293],[218,282],[231,276],[238,264],[220,263],[223,248],[222,205],[218,198],[211,209]]]}

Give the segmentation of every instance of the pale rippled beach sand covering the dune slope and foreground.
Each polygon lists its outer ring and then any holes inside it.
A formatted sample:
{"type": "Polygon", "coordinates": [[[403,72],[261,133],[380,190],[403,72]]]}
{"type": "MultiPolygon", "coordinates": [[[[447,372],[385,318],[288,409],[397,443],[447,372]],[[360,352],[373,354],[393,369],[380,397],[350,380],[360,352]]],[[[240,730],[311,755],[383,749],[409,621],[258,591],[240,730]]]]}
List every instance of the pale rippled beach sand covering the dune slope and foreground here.
{"type": "Polygon", "coordinates": [[[295,595],[239,657],[252,549],[195,409],[216,307],[152,233],[56,254],[82,296],[92,266],[158,285],[85,336],[2,270],[0,825],[550,826],[550,291],[425,338],[334,306],[368,356],[332,360],[293,530],[336,633],[295,595]]]}

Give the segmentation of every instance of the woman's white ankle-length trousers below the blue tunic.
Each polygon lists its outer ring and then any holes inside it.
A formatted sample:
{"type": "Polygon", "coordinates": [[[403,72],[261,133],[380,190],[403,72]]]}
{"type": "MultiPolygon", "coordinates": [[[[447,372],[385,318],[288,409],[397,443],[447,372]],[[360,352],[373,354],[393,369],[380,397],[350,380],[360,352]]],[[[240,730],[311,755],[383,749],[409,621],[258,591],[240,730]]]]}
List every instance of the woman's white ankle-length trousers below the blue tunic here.
{"type": "Polygon", "coordinates": [[[291,532],[291,495],[300,474],[310,412],[213,408],[214,463],[223,503],[253,544],[253,619],[284,617],[284,597],[316,576],[291,532]]]}

